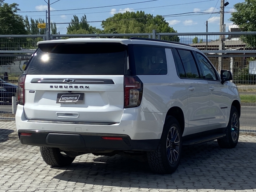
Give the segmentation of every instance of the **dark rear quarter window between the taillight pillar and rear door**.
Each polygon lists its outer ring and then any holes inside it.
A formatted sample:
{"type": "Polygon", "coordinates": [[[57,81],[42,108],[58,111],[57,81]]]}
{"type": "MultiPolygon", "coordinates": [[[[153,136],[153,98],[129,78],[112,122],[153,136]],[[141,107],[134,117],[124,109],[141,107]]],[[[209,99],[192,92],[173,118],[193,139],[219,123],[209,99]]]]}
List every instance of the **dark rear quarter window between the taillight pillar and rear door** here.
{"type": "Polygon", "coordinates": [[[134,45],[133,51],[137,75],[167,74],[164,48],[134,45]]]}

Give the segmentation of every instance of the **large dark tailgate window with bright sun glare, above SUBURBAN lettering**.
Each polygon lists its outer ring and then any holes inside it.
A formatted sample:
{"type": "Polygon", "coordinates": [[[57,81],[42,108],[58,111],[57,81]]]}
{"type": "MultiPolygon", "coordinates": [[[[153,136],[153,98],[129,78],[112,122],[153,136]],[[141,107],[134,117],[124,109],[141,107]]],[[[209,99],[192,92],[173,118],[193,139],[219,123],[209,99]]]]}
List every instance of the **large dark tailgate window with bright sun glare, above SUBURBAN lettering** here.
{"type": "Polygon", "coordinates": [[[125,49],[121,43],[40,44],[27,74],[123,75],[125,49]]]}

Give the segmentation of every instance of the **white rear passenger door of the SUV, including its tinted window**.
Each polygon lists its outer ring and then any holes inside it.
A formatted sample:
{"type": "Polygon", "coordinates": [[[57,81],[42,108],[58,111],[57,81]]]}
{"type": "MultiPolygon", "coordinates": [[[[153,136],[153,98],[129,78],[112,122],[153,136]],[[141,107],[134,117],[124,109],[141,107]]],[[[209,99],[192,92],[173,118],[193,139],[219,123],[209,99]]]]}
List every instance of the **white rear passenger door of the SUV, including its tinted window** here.
{"type": "MultiPolygon", "coordinates": [[[[187,134],[203,132],[209,124],[209,89],[207,82],[200,78],[192,51],[177,49],[178,64],[182,62],[183,79],[188,94],[188,131],[187,134]]],[[[181,64],[179,64],[181,65],[181,64]]]]}

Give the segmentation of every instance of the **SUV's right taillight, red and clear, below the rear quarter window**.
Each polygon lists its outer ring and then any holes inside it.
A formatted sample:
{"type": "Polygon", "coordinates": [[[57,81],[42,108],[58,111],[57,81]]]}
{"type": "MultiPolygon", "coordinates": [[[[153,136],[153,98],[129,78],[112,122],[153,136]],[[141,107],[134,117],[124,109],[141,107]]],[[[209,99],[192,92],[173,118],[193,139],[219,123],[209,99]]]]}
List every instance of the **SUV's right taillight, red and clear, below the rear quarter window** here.
{"type": "Polygon", "coordinates": [[[142,100],[143,83],[137,76],[124,77],[124,108],[137,107],[142,100]]]}

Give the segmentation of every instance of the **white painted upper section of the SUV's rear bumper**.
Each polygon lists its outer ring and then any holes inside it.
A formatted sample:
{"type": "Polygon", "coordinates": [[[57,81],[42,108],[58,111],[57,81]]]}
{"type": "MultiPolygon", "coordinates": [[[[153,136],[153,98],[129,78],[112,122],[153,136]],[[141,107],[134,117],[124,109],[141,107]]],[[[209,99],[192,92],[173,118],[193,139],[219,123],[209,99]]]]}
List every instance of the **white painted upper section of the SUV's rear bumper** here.
{"type": "MultiPolygon", "coordinates": [[[[140,107],[124,109],[120,122],[68,122],[28,120],[22,105],[15,116],[17,130],[38,130],[51,133],[121,134],[131,140],[160,139],[166,113],[143,112],[140,107]]],[[[38,116],[40,118],[40,116],[38,116]]]]}

